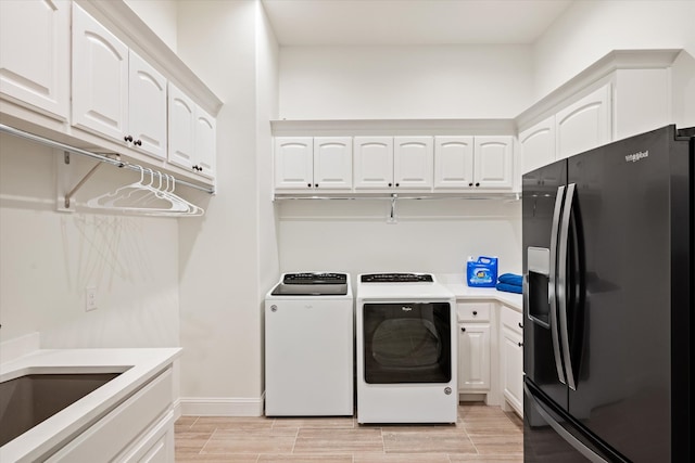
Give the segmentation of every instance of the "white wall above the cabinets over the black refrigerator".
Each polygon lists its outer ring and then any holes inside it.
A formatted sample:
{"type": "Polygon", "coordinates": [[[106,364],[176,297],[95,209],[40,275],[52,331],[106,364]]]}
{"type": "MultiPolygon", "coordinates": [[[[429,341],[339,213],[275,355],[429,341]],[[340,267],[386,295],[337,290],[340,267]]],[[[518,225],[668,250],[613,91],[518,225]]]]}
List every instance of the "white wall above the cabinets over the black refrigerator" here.
{"type": "Polygon", "coordinates": [[[673,68],[674,123],[695,125],[695,2],[576,1],[535,43],[539,99],[611,50],[684,49],[673,68]]]}

